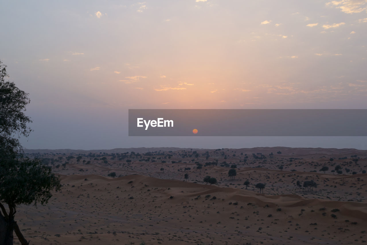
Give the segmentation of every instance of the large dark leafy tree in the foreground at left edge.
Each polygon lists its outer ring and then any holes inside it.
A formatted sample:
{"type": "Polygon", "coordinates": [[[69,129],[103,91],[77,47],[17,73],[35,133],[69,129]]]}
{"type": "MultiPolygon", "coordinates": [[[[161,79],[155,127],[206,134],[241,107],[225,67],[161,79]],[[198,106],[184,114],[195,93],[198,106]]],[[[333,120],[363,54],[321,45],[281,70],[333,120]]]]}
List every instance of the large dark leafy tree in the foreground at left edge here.
{"type": "Polygon", "coordinates": [[[61,184],[50,167],[22,156],[19,138],[32,131],[27,126],[32,121],[24,114],[30,100],[14,82],[5,81],[7,77],[0,61],[0,244],[12,245],[15,231],[21,244],[28,245],[15,221],[18,206],[46,205],[61,184]]]}

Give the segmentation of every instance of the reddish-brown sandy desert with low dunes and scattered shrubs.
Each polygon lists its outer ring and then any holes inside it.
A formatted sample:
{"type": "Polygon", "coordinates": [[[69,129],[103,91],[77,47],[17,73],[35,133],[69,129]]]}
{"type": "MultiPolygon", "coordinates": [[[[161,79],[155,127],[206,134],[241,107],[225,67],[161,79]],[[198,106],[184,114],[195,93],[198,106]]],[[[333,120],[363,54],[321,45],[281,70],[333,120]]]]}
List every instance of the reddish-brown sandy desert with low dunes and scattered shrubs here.
{"type": "Polygon", "coordinates": [[[52,167],[62,188],[47,206],[21,206],[16,217],[30,244],[362,244],[366,154],[285,147],[25,150],[52,167]],[[204,182],[206,176],[217,183],[204,182]]]}

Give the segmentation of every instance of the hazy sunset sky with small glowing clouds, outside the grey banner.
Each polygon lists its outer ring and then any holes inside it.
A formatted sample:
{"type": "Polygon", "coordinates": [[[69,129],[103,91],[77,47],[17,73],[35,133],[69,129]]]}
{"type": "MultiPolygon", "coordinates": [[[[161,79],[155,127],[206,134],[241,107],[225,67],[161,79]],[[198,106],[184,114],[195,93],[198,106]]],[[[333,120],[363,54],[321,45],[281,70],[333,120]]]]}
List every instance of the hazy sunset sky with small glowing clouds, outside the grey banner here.
{"type": "Polygon", "coordinates": [[[128,137],[128,109],[366,109],[367,0],[4,1],[29,149],[367,149],[366,137],[128,137]]]}

